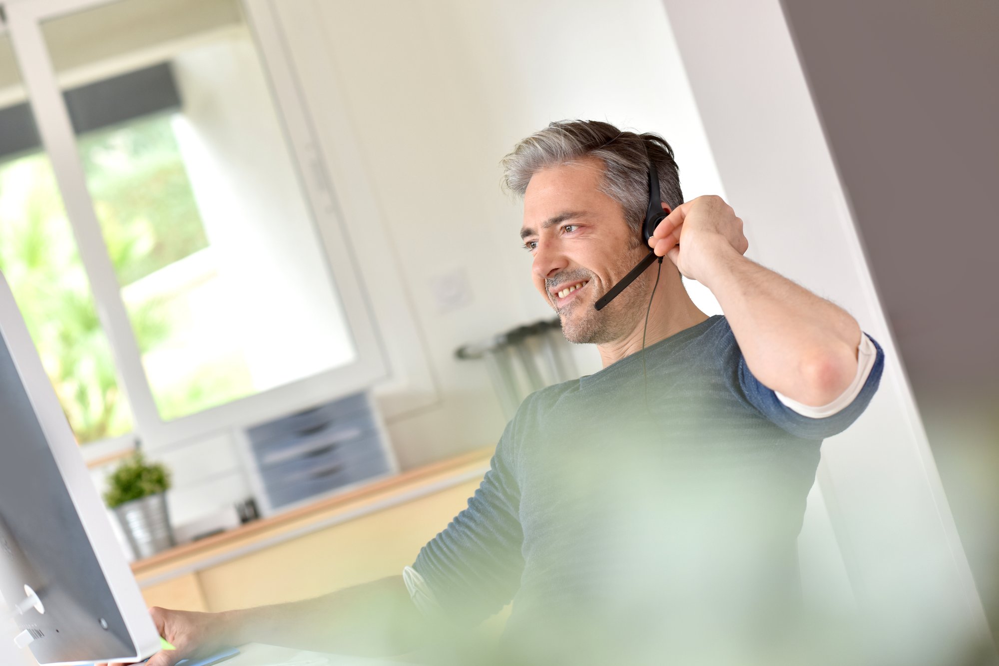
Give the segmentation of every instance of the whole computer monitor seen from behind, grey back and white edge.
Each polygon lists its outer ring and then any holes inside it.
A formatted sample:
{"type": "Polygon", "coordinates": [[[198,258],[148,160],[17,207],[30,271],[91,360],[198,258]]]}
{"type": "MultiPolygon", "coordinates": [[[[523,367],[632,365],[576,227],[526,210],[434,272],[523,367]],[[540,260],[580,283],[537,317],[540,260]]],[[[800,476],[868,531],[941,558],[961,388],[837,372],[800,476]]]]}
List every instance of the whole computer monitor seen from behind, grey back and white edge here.
{"type": "Polygon", "coordinates": [[[139,661],[160,648],[2,275],[0,597],[0,610],[9,608],[17,625],[0,640],[27,643],[39,664],[139,661]]]}

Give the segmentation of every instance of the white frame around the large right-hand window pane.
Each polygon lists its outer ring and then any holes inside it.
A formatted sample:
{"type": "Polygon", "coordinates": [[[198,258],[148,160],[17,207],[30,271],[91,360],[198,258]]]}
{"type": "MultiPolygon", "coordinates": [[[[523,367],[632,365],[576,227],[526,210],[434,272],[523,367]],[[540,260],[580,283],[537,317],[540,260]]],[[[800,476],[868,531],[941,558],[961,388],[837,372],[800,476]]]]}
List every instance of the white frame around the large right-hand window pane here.
{"type": "Polygon", "coordinates": [[[288,40],[273,0],[240,0],[282,125],[323,259],[340,297],[357,358],[275,388],[164,421],[122,301],[80,161],[77,138],[58,84],[41,25],[44,21],[122,0],[7,0],[4,32],[10,38],[42,147],[52,164],[77,248],[90,281],[102,328],[111,344],[122,389],[132,407],[134,432],[81,445],[87,460],[134,446],[157,448],[212,432],[242,427],[365,390],[388,376],[384,343],[361,282],[358,261],[340,214],[316,133],[301,92],[288,40]]]}

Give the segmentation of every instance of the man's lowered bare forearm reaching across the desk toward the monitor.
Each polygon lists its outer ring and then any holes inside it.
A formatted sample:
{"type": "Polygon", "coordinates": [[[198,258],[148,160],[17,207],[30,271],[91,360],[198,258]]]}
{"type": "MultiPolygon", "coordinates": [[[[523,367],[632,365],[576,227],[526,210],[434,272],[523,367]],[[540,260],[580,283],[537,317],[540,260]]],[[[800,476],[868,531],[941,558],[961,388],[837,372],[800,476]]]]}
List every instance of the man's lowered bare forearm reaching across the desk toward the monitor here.
{"type": "Polygon", "coordinates": [[[427,624],[402,576],[326,596],[221,613],[228,643],[267,643],[317,652],[392,656],[418,647],[427,624]]]}

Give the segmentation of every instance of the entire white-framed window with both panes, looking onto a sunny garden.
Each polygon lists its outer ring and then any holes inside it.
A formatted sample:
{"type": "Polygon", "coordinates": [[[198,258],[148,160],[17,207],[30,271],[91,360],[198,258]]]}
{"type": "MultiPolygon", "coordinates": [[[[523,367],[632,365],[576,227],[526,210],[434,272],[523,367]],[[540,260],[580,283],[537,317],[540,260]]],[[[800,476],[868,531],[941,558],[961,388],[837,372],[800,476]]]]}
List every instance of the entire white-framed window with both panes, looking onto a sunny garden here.
{"type": "Polygon", "coordinates": [[[47,139],[0,140],[0,270],[79,440],[195,436],[384,374],[329,185],[299,178],[323,170],[269,79],[292,73],[251,19],[268,3],[66,4],[8,9],[32,99],[0,93],[0,135],[47,139]]]}

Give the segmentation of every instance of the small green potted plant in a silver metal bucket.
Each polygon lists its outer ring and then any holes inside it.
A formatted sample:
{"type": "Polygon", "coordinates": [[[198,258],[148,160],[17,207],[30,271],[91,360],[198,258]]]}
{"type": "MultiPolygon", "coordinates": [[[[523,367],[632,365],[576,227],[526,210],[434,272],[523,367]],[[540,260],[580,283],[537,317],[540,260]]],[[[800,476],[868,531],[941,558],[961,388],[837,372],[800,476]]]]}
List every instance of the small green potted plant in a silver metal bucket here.
{"type": "Polygon", "coordinates": [[[118,517],[138,559],[175,544],[167,510],[170,470],[148,462],[141,451],[122,461],[108,477],[104,501],[118,517]]]}

